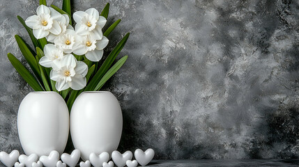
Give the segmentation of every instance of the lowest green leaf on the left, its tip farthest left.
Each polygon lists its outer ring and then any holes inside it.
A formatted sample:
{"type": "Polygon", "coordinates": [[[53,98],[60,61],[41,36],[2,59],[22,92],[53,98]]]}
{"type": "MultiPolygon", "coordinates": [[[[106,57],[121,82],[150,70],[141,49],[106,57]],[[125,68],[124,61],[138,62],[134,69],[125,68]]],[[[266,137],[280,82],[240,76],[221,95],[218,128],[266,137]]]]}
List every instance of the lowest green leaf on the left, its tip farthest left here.
{"type": "Polygon", "coordinates": [[[26,83],[33,88],[33,90],[36,91],[43,91],[43,88],[38,84],[38,81],[33,77],[33,75],[29,72],[29,70],[22,65],[22,63],[13,56],[13,54],[8,53],[8,60],[10,63],[15,67],[15,70],[21,75],[21,77],[26,81],[26,83]]]}

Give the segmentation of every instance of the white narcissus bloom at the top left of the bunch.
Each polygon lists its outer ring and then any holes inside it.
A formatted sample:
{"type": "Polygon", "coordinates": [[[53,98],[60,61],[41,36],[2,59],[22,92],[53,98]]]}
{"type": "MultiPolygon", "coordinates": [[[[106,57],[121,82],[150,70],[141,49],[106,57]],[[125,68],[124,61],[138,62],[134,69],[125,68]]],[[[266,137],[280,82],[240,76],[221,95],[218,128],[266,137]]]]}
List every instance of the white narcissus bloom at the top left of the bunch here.
{"type": "Polygon", "coordinates": [[[44,38],[49,33],[58,35],[61,33],[59,22],[63,19],[63,15],[58,13],[53,8],[41,5],[36,9],[36,14],[26,19],[25,23],[33,29],[33,35],[37,38],[44,38]]]}

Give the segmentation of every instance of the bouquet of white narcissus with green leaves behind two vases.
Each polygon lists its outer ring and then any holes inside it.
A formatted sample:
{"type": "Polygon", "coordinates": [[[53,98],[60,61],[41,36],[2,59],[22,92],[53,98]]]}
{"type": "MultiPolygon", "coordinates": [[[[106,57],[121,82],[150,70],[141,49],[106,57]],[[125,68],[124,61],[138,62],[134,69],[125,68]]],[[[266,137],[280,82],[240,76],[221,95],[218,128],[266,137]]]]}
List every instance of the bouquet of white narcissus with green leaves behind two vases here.
{"type": "Polygon", "coordinates": [[[109,3],[101,13],[89,8],[72,15],[70,0],[63,0],[62,9],[54,5],[47,7],[46,1],[40,0],[36,15],[26,20],[17,16],[35,47],[32,49],[15,35],[31,70],[26,69],[13,54],[8,53],[8,59],[33,90],[59,93],[70,110],[80,93],[100,90],[128,58],[123,56],[114,63],[130,33],[118,42],[103,63],[99,62],[109,43],[107,37],[121,22],[118,19],[102,32],[108,14],[109,3]]]}

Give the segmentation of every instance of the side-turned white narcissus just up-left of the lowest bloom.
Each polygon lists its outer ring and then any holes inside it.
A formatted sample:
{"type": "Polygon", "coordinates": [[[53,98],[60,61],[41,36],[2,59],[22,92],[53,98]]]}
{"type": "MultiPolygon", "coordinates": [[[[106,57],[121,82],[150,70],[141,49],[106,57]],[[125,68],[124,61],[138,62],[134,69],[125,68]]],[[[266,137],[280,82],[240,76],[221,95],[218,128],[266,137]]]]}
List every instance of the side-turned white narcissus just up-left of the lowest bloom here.
{"type": "Polygon", "coordinates": [[[52,67],[54,61],[60,61],[63,57],[63,51],[53,44],[47,44],[44,47],[44,54],[42,58],[40,58],[40,65],[44,67],[52,67]]]}

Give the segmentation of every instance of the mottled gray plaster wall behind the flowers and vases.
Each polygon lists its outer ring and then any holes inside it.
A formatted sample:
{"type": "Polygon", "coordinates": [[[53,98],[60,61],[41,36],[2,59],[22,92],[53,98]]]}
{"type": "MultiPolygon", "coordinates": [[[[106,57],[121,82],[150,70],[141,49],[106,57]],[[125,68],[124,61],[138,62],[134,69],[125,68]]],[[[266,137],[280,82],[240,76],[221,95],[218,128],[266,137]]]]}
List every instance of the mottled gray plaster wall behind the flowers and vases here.
{"type": "MultiPolygon", "coordinates": [[[[74,0],[72,10],[107,2],[107,25],[122,22],[105,56],[131,33],[120,54],[128,61],[103,88],[123,110],[118,150],[153,148],[155,159],[299,158],[299,1],[74,0]]],[[[26,19],[37,6],[0,0],[0,150],[22,150],[17,109],[32,89],[6,54],[24,62],[14,35],[29,36],[16,15],[26,19]]]]}

